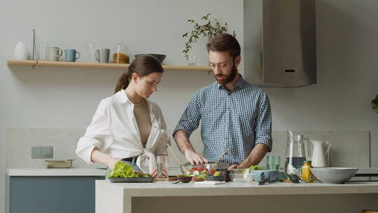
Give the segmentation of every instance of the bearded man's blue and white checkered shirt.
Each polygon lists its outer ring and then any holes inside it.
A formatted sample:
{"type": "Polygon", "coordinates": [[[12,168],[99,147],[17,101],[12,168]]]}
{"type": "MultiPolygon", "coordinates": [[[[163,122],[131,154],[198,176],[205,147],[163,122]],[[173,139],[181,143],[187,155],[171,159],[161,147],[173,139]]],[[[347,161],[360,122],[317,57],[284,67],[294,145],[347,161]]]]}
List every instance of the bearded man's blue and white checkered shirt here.
{"type": "Polygon", "coordinates": [[[241,163],[255,144],[265,144],[272,151],[272,114],[269,99],[263,90],[240,78],[235,89],[225,90],[213,83],[198,90],[190,99],[174,134],[184,130],[188,136],[198,128],[204,143],[204,158],[215,162],[241,163]]]}

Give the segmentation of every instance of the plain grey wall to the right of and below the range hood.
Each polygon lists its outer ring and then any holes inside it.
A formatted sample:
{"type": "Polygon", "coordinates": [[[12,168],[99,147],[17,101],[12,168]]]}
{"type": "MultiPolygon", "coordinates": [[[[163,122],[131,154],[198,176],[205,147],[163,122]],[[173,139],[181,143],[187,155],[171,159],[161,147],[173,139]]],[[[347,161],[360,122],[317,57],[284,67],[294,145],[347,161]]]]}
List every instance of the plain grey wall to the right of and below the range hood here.
{"type": "Polygon", "coordinates": [[[317,0],[316,15],[318,83],[266,88],[273,127],[370,131],[377,167],[378,114],[370,102],[378,95],[378,1],[317,0]]]}

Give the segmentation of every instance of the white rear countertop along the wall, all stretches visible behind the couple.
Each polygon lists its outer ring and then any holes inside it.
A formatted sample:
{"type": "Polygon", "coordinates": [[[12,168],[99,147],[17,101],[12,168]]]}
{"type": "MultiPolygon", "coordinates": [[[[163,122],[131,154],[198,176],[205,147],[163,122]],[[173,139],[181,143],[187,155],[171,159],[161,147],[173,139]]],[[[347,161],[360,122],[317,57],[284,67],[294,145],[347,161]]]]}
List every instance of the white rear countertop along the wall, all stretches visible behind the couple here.
{"type": "MultiPolygon", "coordinates": [[[[47,168],[8,168],[6,174],[9,176],[105,176],[106,170],[94,168],[69,168],[69,169],[47,169],[47,168]]],[[[169,175],[181,174],[179,168],[169,168],[169,175]]],[[[378,167],[359,168],[357,174],[378,174],[378,167]]]]}

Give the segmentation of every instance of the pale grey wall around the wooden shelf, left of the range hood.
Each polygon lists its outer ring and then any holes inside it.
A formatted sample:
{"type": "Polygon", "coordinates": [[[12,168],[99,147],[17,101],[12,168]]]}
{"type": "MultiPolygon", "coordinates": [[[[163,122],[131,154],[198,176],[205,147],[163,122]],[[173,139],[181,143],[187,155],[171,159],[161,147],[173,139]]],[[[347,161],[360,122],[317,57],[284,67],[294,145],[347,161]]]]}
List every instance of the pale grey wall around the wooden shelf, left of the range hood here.
{"type": "MultiPolygon", "coordinates": [[[[99,101],[112,95],[121,71],[38,67],[8,68],[13,48],[23,41],[31,52],[31,29],[50,44],[76,48],[86,41],[113,48],[122,40],[130,55],[163,53],[165,64],[186,65],[181,54],[189,18],[211,13],[228,22],[243,41],[243,1],[2,1],[0,7],[0,212],[3,212],[5,128],[85,128],[99,101]]],[[[198,64],[207,64],[205,40],[195,48],[198,64]]],[[[132,57],[134,58],[134,57],[132,57]]],[[[83,61],[82,57],[79,61],[83,61]]],[[[214,82],[207,73],[167,71],[151,99],[160,104],[168,128],[174,128],[193,93],[214,82]]]]}

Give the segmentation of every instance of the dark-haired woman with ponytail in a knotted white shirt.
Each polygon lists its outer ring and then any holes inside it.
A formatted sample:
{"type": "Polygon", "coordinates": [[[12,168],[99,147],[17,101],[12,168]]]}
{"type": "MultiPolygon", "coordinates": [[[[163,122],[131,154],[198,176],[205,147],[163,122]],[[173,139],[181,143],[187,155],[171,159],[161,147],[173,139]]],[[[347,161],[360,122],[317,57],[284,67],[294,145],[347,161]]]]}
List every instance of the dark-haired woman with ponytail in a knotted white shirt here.
{"type": "MultiPolygon", "coordinates": [[[[141,55],[120,76],[115,94],[102,99],[78,141],[76,154],[110,169],[119,160],[156,176],[156,156],[167,155],[167,126],[160,107],[148,100],[162,78],[160,63],[141,55]]],[[[167,172],[163,172],[167,177],[167,172]]]]}

